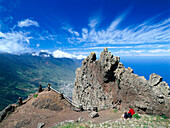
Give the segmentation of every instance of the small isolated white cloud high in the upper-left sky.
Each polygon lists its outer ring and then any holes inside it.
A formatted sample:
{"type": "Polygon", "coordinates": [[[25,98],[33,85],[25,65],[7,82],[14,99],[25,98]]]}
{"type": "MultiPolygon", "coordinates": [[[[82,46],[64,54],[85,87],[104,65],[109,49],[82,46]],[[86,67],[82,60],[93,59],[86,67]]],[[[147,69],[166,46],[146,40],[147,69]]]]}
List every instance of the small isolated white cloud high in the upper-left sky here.
{"type": "Polygon", "coordinates": [[[29,27],[29,26],[39,27],[39,24],[38,24],[37,21],[33,21],[33,20],[30,20],[30,19],[26,19],[26,20],[18,22],[18,27],[22,28],[22,27],[29,27]]]}

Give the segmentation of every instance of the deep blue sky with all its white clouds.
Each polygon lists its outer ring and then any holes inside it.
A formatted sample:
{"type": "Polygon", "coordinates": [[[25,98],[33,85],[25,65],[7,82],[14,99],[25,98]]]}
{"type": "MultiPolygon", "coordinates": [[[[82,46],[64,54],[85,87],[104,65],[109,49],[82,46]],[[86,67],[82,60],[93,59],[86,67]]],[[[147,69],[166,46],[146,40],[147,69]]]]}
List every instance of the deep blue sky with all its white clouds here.
{"type": "Polygon", "coordinates": [[[170,0],[0,0],[0,52],[170,56],[170,0]]]}

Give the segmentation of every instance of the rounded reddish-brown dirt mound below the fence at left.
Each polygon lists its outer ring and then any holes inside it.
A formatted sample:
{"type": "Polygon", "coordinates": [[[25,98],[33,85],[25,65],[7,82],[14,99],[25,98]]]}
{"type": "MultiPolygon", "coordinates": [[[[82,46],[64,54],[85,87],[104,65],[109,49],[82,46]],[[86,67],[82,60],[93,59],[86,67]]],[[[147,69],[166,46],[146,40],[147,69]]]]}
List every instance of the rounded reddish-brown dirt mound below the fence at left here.
{"type": "MultiPolygon", "coordinates": [[[[71,105],[60,99],[54,91],[43,91],[37,97],[32,97],[22,106],[19,106],[0,123],[3,128],[36,128],[39,122],[50,127],[57,122],[76,120],[82,113],[75,112],[71,105]]],[[[83,114],[87,117],[87,113],[83,114]]]]}

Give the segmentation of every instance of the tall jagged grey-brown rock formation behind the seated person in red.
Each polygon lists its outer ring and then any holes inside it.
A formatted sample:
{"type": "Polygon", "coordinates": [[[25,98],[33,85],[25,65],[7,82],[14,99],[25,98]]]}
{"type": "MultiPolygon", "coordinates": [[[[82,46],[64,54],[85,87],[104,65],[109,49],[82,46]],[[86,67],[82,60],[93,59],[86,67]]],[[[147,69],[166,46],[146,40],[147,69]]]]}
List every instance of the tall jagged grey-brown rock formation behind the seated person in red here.
{"type": "Polygon", "coordinates": [[[149,81],[125,68],[107,48],[96,60],[91,53],[76,70],[73,100],[83,106],[107,106],[118,100],[122,107],[132,105],[139,113],[170,117],[170,88],[153,73],[149,81]]]}

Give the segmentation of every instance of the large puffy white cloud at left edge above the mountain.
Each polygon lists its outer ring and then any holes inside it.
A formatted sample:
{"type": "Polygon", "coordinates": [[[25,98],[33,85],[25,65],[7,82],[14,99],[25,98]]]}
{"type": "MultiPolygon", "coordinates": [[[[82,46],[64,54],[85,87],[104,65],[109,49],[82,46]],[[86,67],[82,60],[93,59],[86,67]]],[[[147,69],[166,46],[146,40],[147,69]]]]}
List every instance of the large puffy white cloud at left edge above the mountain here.
{"type": "Polygon", "coordinates": [[[0,52],[7,53],[23,53],[29,52],[27,48],[29,40],[32,37],[27,36],[28,33],[23,32],[0,32],[0,52]]]}

